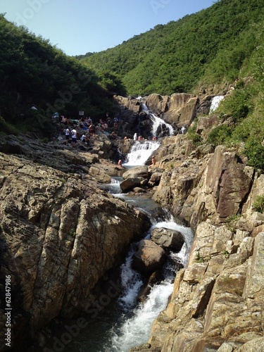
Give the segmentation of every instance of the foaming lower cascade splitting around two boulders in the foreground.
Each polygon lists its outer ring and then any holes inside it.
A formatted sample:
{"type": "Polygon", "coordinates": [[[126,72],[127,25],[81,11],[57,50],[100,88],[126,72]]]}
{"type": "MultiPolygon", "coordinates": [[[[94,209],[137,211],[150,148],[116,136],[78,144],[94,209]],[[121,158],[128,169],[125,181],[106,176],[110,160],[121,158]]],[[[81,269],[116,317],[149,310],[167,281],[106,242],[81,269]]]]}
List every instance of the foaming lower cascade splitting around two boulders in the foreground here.
{"type": "MultiPolygon", "coordinates": [[[[170,230],[180,231],[184,236],[184,245],[179,253],[170,254],[170,265],[163,270],[165,279],[151,288],[151,292],[144,303],[137,303],[137,296],[143,281],[140,275],[131,268],[132,254],[135,251],[135,248],[132,247],[126,262],[121,268],[123,293],[118,299],[120,306],[127,311],[127,314],[126,316],[121,315],[119,321],[113,327],[110,344],[105,346],[104,351],[127,352],[134,346],[146,343],[153,321],[161,313],[161,310],[166,308],[168,297],[172,293],[172,279],[175,277],[175,265],[173,263],[181,263],[184,267],[187,265],[193,239],[191,230],[188,227],[177,225],[172,219],[158,222],[151,227],[151,230],[154,227],[166,227],[170,230]]],[[[146,238],[150,237],[150,232],[146,238]]]]}

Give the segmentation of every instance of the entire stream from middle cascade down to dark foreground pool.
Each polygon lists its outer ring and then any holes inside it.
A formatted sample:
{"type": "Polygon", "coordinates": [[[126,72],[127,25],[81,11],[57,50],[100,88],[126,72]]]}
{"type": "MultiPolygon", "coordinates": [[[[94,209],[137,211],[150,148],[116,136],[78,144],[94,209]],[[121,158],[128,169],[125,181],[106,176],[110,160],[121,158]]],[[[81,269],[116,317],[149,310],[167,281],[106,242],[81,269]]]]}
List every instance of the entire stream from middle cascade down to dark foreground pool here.
{"type": "MultiPolygon", "coordinates": [[[[128,168],[144,165],[151,153],[158,149],[158,146],[158,142],[136,142],[127,156],[127,163],[123,165],[128,168]]],[[[118,299],[107,301],[103,296],[98,298],[98,303],[89,310],[88,315],[85,315],[85,327],[79,329],[77,336],[74,339],[72,338],[68,344],[64,344],[61,351],[127,352],[133,346],[146,343],[149,339],[153,320],[168,304],[168,297],[172,293],[173,279],[179,264],[183,267],[187,265],[193,240],[191,229],[178,225],[172,215],[165,211],[161,211],[161,217],[153,216],[153,210],[160,206],[148,196],[135,197],[122,194],[119,187],[121,180],[122,177],[113,177],[111,184],[104,186],[113,196],[122,198],[149,214],[152,226],[149,232],[145,234],[145,238],[149,239],[151,237],[151,231],[155,227],[165,227],[181,232],[184,237],[184,245],[179,253],[169,253],[169,259],[163,268],[163,281],[151,288],[144,303],[139,303],[138,296],[145,279],[139,272],[132,269],[132,256],[137,250],[137,243],[132,243],[125,262],[120,267],[120,278],[116,282],[110,281],[110,284],[108,282],[112,291],[114,289],[118,291],[118,299]]],[[[70,324],[73,324],[73,320],[68,322],[68,325],[70,324]]],[[[61,341],[61,339],[58,340],[61,341]]]]}

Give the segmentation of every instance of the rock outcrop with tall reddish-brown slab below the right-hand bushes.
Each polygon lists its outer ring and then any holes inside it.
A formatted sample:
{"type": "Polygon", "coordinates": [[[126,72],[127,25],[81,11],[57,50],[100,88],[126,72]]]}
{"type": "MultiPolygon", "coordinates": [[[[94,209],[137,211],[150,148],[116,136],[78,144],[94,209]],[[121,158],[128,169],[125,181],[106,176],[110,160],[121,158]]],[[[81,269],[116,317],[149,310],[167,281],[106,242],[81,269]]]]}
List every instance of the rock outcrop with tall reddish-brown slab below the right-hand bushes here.
{"type": "MultiPolygon", "coordinates": [[[[181,137],[172,137],[175,148],[181,137]]],[[[160,164],[163,163],[163,158],[158,158],[160,164]]],[[[165,158],[168,163],[170,155],[165,158]]],[[[205,156],[191,153],[184,158],[178,152],[170,160],[176,167],[163,172],[153,198],[160,203],[172,203],[176,216],[195,228],[207,218],[222,222],[230,215],[241,213],[251,191],[254,170],[246,166],[246,160],[242,160],[236,151],[218,146],[214,153],[205,156]]]]}

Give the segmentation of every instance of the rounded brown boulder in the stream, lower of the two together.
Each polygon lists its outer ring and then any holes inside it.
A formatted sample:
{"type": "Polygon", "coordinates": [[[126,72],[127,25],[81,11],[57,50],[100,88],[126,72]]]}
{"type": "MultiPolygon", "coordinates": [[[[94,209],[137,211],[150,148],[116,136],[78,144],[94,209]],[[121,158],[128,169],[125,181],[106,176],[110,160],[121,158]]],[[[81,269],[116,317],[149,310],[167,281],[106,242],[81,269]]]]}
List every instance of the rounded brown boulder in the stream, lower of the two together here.
{"type": "Polygon", "coordinates": [[[139,249],[132,258],[132,267],[143,275],[149,276],[165,264],[167,255],[160,246],[149,239],[139,242],[139,249]]]}

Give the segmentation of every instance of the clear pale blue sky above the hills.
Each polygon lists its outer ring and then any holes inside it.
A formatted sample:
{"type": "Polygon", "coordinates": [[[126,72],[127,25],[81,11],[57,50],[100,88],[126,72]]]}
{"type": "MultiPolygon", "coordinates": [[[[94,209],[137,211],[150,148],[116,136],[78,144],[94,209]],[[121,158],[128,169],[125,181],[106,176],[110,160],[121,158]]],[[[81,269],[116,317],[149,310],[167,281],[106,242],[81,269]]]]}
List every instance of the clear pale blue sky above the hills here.
{"type": "Polygon", "coordinates": [[[67,55],[113,48],[216,0],[0,0],[0,13],[67,55]]]}

